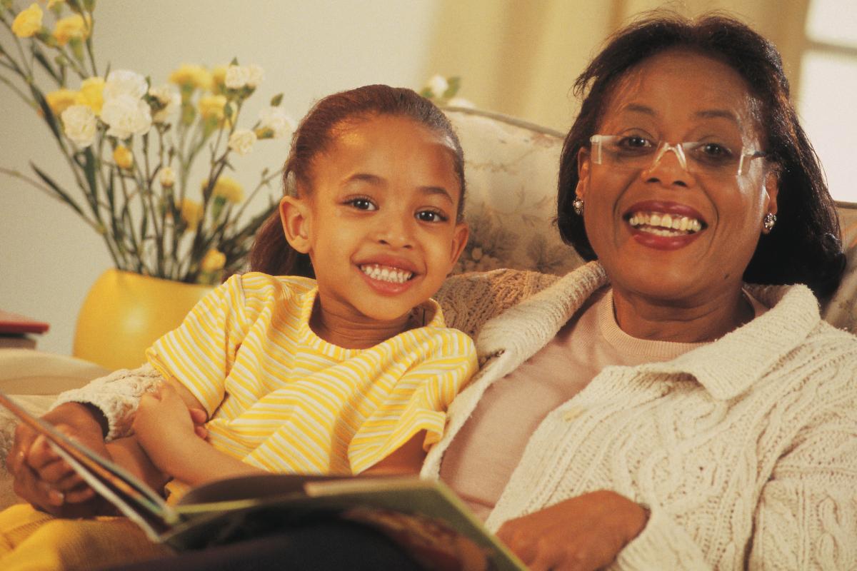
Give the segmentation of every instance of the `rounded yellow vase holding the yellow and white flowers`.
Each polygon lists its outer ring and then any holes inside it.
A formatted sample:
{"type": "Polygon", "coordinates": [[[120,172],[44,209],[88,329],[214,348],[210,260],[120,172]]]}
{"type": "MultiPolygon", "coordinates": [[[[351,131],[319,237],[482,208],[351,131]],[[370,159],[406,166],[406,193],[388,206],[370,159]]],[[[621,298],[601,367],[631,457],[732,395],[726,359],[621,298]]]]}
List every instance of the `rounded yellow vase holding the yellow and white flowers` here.
{"type": "Polygon", "coordinates": [[[105,271],[83,300],[72,353],[111,370],[141,366],[146,349],[181,324],[211,290],[130,271],[105,271]]]}

